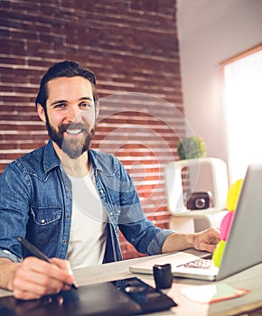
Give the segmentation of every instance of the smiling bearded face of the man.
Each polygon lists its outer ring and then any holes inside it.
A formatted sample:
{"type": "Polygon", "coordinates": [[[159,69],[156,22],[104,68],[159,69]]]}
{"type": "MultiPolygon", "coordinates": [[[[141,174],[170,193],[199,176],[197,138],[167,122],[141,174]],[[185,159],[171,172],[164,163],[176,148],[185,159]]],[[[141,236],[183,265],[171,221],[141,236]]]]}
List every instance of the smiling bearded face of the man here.
{"type": "Polygon", "coordinates": [[[61,77],[48,82],[46,126],[51,140],[71,159],[89,149],[96,117],[88,79],[61,77]]]}

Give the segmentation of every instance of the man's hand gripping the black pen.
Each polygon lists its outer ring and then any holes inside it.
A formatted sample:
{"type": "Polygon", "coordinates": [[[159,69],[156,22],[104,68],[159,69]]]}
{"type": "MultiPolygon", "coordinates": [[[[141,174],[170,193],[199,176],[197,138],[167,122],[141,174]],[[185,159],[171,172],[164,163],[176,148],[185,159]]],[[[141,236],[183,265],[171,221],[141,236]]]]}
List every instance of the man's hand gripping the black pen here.
{"type": "Polygon", "coordinates": [[[67,260],[52,258],[54,265],[36,257],[27,257],[20,264],[14,264],[13,278],[9,290],[22,300],[39,299],[44,295],[69,290],[74,277],[67,260]]]}

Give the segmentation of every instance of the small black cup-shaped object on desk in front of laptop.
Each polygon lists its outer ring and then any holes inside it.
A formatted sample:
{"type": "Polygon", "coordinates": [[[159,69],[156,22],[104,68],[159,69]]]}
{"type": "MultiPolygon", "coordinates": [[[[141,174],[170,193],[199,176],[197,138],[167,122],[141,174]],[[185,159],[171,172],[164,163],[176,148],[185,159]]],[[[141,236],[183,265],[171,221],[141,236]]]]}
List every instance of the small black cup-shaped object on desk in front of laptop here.
{"type": "Polygon", "coordinates": [[[171,265],[154,265],[153,271],[155,287],[157,289],[170,289],[173,283],[171,265]]]}

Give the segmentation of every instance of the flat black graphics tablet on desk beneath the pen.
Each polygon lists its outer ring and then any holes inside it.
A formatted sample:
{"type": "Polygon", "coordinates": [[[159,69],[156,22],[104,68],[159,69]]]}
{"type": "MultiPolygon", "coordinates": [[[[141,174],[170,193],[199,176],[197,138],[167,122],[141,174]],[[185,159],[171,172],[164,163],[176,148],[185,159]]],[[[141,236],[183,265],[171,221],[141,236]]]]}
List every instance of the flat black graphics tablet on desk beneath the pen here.
{"type": "Polygon", "coordinates": [[[21,301],[14,296],[0,298],[1,316],[128,316],[166,311],[173,300],[133,277],[114,282],[80,286],[78,290],[21,301]]]}

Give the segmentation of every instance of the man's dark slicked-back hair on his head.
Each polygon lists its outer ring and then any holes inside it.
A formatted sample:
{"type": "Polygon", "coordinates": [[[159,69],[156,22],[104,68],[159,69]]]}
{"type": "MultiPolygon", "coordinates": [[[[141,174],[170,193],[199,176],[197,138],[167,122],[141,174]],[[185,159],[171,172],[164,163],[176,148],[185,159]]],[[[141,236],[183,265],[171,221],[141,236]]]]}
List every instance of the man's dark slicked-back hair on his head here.
{"type": "Polygon", "coordinates": [[[49,70],[45,73],[45,75],[42,77],[40,88],[38,95],[35,99],[35,105],[40,103],[44,110],[46,110],[46,100],[48,98],[48,90],[47,90],[47,84],[51,79],[55,78],[61,78],[61,77],[75,77],[80,76],[85,79],[88,79],[91,83],[92,90],[93,90],[93,98],[95,106],[98,103],[98,93],[96,91],[96,78],[92,71],[84,68],[80,64],[78,64],[75,61],[69,61],[64,60],[61,62],[58,62],[51,66],[49,70]]]}

